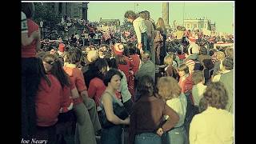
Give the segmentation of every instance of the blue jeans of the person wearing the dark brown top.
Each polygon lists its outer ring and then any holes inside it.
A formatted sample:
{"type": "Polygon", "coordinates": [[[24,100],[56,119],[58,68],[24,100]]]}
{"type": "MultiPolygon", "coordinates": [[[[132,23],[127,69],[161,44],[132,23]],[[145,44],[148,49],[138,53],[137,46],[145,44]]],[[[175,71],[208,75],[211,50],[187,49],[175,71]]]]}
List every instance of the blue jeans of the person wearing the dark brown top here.
{"type": "Polygon", "coordinates": [[[162,141],[158,134],[142,133],[135,136],[134,144],[162,144],[162,141]]]}

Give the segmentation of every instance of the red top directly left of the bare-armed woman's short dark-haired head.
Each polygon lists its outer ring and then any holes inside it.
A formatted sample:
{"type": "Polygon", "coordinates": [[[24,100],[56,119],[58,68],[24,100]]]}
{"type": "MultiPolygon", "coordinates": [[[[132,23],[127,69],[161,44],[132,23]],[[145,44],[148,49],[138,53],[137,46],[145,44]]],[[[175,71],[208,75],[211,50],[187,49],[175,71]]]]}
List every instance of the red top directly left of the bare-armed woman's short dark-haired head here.
{"type": "Polygon", "coordinates": [[[88,88],[88,96],[90,98],[94,98],[96,106],[100,106],[100,100],[105,90],[106,90],[106,86],[104,85],[102,79],[93,78],[90,80],[90,84],[88,88]]]}

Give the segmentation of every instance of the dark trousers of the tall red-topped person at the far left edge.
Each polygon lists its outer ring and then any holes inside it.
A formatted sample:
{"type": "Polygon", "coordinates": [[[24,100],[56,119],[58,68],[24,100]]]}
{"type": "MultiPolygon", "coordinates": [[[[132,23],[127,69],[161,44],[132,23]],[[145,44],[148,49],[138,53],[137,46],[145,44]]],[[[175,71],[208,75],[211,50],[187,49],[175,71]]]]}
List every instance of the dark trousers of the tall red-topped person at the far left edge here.
{"type": "Polygon", "coordinates": [[[40,78],[38,59],[22,58],[22,137],[34,134],[36,129],[35,96],[40,78]]]}

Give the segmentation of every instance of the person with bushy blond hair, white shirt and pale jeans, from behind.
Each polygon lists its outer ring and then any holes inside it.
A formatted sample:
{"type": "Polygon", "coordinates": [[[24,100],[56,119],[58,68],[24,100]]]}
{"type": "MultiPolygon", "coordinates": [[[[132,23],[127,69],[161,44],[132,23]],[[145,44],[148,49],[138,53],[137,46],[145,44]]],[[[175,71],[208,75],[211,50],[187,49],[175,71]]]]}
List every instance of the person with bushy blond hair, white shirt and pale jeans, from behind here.
{"type": "Polygon", "coordinates": [[[184,128],[187,106],[185,94],[182,93],[181,87],[173,77],[160,78],[157,87],[160,98],[179,116],[178,123],[166,133],[166,144],[187,144],[188,137],[184,128]]]}

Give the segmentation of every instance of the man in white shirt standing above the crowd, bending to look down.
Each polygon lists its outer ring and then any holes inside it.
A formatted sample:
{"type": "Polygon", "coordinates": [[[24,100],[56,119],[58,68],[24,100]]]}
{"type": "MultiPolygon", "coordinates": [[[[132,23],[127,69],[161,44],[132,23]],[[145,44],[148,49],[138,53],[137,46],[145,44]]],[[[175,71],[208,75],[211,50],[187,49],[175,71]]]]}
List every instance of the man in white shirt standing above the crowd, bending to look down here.
{"type": "Polygon", "coordinates": [[[146,24],[145,19],[138,17],[137,14],[132,10],[126,11],[125,18],[127,18],[128,22],[132,22],[134,26],[134,30],[138,40],[138,49],[143,53],[143,50],[147,50],[147,34],[146,34],[146,24]]]}

